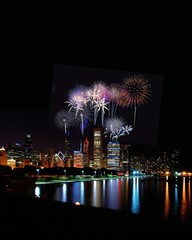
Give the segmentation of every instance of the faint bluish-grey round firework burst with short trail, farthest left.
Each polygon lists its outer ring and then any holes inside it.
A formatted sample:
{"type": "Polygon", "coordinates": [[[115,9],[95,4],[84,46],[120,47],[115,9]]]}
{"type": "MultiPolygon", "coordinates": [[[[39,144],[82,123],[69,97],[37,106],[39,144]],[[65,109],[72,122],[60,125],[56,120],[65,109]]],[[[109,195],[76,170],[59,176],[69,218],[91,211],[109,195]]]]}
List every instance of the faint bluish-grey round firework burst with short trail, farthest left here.
{"type": "Polygon", "coordinates": [[[67,134],[67,129],[73,125],[74,114],[67,110],[60,110],[54,116],[55,125],[64,130],[64,133],[67,134]]]}

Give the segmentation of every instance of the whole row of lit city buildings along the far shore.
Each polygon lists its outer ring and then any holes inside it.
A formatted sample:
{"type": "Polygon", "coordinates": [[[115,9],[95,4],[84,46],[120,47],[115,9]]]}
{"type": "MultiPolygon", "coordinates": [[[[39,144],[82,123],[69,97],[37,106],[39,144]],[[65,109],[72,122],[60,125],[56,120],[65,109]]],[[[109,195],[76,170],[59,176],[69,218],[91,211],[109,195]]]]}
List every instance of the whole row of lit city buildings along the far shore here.
{"type": "Polygon", "coordinates": [[[104,148],[103,133],[101,128],[93,131],[92,150],[90,142],[86,137],[80,145],[79,150],[70,151],[70,140],[64,139],[64,151],[55,152],[49,149],[48,152],[39,153],[33,149],[32,136],[25,136],[24,146],[8,144],[0,148],[0,165],[14,168],[23,168],[26,165],[33,165],[41,168],[51,167],[75,167],[94,169],[106,168],[115,171],[135,171],[146,174],[161,174],[166,171],[174,172],[179,170],[179,152],[171,154],[163,152],[161,156],[146,156],[145,154],[130,154],[130,144],[120,144],[118,141],[109,141],[104,148]]]}

